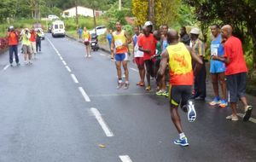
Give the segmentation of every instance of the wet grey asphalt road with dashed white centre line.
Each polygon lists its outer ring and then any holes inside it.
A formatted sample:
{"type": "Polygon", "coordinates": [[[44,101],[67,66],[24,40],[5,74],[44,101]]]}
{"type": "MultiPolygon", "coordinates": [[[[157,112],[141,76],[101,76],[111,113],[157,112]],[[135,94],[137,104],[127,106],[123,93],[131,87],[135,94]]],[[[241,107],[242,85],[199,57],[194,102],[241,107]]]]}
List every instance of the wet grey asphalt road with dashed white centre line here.
{"type": "Polygon", "coordinates": [[[136,86],[132,63],[129,90],[116,90],[108,54],[85,58],[82,43],[47,35],[32,66],[21,56],[20,67],[0,56],[1,162],[256,160],[256,124],[227,121],[230,108],[207,101],[194,123],[180,111],[189,147],[174,145],[168,101],[136,86]]]}

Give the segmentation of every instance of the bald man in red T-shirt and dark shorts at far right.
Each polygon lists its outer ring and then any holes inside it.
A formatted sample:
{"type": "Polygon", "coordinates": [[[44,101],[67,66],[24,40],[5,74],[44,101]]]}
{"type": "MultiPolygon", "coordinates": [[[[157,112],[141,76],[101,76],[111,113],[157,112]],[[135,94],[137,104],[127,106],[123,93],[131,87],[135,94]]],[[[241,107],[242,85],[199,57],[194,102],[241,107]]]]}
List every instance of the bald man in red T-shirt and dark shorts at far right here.
{"type": "Polygon", "coordinates": [[[236,104],[238,99],[241,99],[245,114],[243,121],[250,119],[253,107],[249,106],[246,98],[247,84],[247,65],[243,56],[241,41],[232,35],[232,27],[225,25],[221,28],[222,38],[224,38],[224,57],[218,55],[212,56],[213,60],[223,61],[226,66],[225,75],[229,90],[229,101],[232,114],[226,119],[237,121],[236,104]]]}

